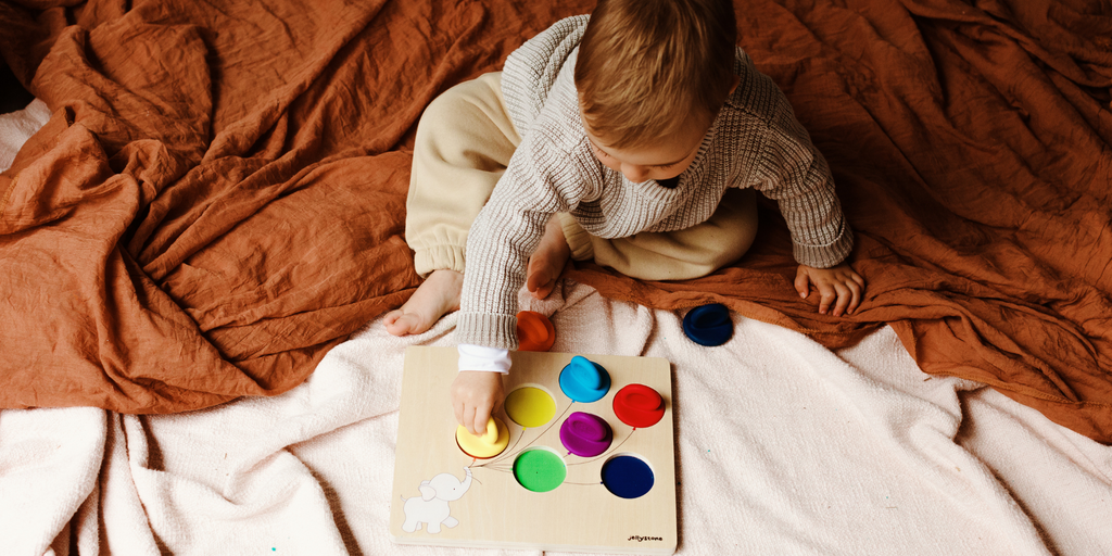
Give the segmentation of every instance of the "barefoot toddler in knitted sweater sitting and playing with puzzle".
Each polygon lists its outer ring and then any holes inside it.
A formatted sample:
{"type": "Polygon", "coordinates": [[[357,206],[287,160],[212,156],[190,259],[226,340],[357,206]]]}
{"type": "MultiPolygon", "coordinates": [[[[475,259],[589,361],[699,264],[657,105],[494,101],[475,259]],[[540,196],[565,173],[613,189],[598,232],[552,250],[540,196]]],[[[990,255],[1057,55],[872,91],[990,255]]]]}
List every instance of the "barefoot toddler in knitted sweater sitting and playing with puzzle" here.
{"type": "Polygon", "coordinates": [[[599,0],[429,105],[406,207],[426,278],[385,325],[418,334],[460,311],[451,404],[473,434],[503,400],[523,285],[546,297],[569,258],[705,276],[752,244],[754,190],[787,220],[800,296],[856,309],[826,161],[735,41],[729,0],[599,0]]]}

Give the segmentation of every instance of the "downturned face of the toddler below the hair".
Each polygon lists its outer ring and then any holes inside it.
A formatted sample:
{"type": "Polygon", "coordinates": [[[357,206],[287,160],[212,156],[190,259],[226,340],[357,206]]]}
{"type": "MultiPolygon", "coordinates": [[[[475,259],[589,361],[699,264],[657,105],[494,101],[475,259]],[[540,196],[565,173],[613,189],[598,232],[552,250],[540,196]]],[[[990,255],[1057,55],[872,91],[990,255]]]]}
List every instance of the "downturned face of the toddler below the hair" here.
{"type": "Polygon", "coordinates": [[[584,122],[583,129],[587,132],[587,140],[590,141],[595,158],[603,166],[622,172],[629,181],[639,183],[651,179],[663,180],[675,178],[683,173],[691,166],[698,155],[698,148],[703,143],[709,122],[704,122],[702,118],[694,118],[692,125],[686,126],[681,132],[661,141],[658,145],[648,145],[634,149],[617,149],[608,147],[604,140],[595,136],[590,128],[584,122]]]}

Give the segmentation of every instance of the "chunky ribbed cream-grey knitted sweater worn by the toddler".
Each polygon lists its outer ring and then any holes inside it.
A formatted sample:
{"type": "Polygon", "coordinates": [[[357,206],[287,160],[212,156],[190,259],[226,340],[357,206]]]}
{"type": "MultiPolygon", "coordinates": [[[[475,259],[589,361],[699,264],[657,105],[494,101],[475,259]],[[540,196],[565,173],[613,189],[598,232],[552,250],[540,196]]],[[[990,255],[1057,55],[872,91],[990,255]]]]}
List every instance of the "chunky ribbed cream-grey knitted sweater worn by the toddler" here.
{"type": "Polygon", "coordinates": [[[634,183],[603,166],[584,133],[573,78],[587,19],[556,22],[506,60],[503,95],[522,143],[470,229],[459,344],[517,348],[517,294],[555,212],[602,238],[629,237],[695,226],[726,188],[752,187],[780,203],[798,262],[826,268],[850,254],[853,235],[826,160],[784,93],[741,49],[741,83],[674,188],[634,183]]]}

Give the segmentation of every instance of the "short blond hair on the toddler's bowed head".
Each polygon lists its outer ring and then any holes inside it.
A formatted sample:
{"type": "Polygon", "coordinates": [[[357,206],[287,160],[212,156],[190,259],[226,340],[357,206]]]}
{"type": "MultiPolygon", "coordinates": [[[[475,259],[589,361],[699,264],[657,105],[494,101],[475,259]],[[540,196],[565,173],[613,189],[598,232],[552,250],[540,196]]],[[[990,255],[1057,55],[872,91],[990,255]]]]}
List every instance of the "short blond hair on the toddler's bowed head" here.
{"type": "Polygon", "coordinates": [[[579,43],[584,122],[615,148],[637,148],[713,118],[734,85],[729,0],[599,0],[579,43]]]}

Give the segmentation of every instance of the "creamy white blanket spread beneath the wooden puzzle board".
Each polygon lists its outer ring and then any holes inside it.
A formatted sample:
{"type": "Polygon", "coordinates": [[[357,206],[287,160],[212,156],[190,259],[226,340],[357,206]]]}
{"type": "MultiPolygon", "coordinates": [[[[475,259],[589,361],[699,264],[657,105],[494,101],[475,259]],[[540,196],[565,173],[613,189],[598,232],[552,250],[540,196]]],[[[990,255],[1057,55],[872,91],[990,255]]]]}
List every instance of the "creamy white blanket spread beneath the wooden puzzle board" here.
{"type": "MultiPolygon", "coordinates": [[[[523,308],[553,316],[555,351],[673,363],[678,554],[1112,554],[1112,447],[922,374],[890,328],[835,354],[735,315],[706,348],[681,314],[574,282],[523,308]]],[[[370,322],[274,398],[0,411],[0,554],[503,553],[387,532],[403,354],[454,326],[370,322]]]]}

